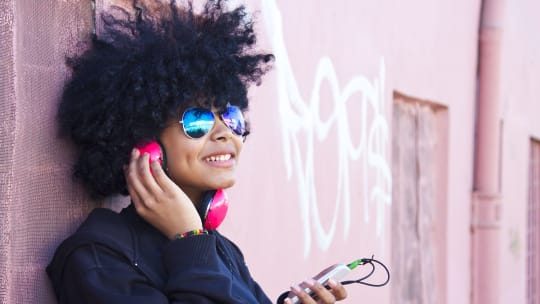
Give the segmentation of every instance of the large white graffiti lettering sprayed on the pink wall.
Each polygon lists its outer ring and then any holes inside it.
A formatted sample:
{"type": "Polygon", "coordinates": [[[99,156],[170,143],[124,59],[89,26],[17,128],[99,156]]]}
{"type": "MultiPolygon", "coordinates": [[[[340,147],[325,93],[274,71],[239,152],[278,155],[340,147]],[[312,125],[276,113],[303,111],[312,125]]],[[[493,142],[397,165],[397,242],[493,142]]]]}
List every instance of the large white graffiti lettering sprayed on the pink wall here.
{"type": "MultiPolygon", "coordinates": [[[[389,136],[388,121],[384,116],[384,60],[380,62],[379,78],[370,82],[366,77],[355,76],[343,89],[328,57],[320,58],[313,89],[308,101],[302,98],[292,70],[285,40],[281,13],[275,0],[262,0],[262,13],[266,30],[276,56],[275,72],[285,166],[289,180],[294,176],[298,183],[300,215],[304,231],[304,256],[311,250],[311,230],[321,250],[329,248],[338,226],[340,215],[345,238],[351,225],[350,173],[352,165],[360,162],[363,181],[364,221],[370,221],[370,207],[375,205],[376,233],[381,236],[385,224],[385,212],[391,204],[392,176],[386,153],[389,136]],[[333,95],[333,112],[322,120],[319,115],[322,84],[326,82],[333,95]],[[351,139],[348,121],[348,103],[360,102],[361,112],[355,113],[361,123],[361,140],[355,146],[351,139]],[[369,111],[369,115],[368,115],[369,111]],[[338,119],[339,118],[339,119],[338,119]],[[369,121],[368,121],[369,120],[369,121]],[[330,128],[336,127],[338,144],[338,178],[335,208],[329,228],[325,229],[319,214],[315,187],[314,144],[324,141],[330,128]],[[300,142],[306,143],[304,151],[300,142]]],[[[356,123],[356,122],[355,122],[356,123]]],[[[328,226],[328,225],[326,225],[328,226]]]]}

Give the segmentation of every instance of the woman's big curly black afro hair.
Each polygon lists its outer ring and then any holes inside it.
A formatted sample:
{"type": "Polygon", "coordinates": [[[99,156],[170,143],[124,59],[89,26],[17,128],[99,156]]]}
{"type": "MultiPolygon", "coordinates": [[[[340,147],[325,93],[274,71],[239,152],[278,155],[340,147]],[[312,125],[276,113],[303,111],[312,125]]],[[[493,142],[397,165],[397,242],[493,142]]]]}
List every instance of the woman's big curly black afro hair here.
{"type": "Polygon", "coordinates": [[[74,176],[93,198],[127,195],[123,166],[141,140],[157,139],[188,105],[247,110],[273,55],[256,51],[244,6],[208,0],[134,1],[101,15],[103,30],[72,70],[58,110],[62,135],[77,147],[74,176]]]}

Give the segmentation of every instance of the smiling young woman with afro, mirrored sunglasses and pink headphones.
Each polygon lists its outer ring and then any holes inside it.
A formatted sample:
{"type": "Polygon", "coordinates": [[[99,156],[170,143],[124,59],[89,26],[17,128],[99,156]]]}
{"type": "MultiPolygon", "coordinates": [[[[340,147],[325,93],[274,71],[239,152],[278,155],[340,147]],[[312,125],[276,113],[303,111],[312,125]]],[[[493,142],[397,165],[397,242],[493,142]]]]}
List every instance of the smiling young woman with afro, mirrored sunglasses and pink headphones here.
{"type": "MultiPolygon", "coordinates": [[[[100,37],[68,61],[59,124],[77,148],[74,175],[92,197],[132,204],[94,210],[59,246],[47,268],[59,303],[271,303],[208,222],[219,189],[235,183],[247,88],[273,59],[254,50],[245,8],[225,4],[112,8],[100,37]]],[[[346,297],[336,282],[301,286],[314,291],[291,288],[302,303],[346,297]]]]}

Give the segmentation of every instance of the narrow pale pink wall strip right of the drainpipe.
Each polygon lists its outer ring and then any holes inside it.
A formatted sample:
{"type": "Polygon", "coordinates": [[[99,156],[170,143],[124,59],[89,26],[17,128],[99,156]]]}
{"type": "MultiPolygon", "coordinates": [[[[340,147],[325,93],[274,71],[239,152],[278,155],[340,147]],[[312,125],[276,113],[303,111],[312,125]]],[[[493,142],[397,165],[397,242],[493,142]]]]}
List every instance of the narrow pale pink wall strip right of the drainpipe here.
{"type": "MultiPolygon", "coordinates": [[[[500,117],[503,124],[501,303],[526,298],[530,140],[540,138],[540,28],[537,1],[506,4],[500,117]]],[[[524,303],[524,302],[521,302],[524,303]]]]}

